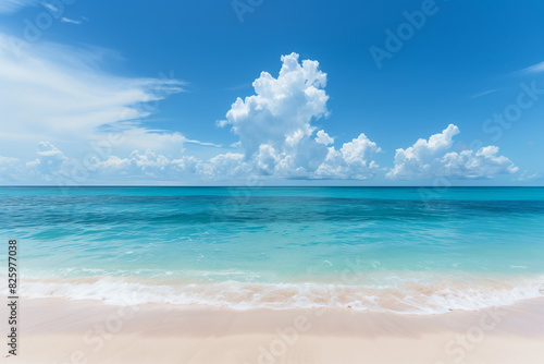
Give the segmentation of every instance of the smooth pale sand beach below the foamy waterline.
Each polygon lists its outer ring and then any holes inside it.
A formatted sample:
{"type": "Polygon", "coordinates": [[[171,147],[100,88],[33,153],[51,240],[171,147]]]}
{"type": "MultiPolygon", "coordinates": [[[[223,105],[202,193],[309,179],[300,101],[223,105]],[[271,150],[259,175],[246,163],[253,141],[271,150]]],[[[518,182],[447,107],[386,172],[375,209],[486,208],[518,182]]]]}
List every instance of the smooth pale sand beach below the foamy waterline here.
{"type": "Polygon", "coordinates": [[[20,316],[2,363],[544,363],[544,299],[428,316],[26,300],[20,316]]]}

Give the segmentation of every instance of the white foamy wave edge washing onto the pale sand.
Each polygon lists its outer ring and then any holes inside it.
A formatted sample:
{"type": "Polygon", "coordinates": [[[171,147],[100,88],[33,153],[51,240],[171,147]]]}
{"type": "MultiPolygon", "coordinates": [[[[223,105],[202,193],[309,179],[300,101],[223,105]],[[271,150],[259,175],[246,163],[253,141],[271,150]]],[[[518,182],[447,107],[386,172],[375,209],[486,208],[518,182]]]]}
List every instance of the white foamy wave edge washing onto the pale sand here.
{"type": "MultiPolygon", "coordinates": [[[[5,287],[0,287],[5,291],[5,287]]],[[[26,279],[20,288],[26,299],[64,298],[98,300],[109,305],[168,303],[175,305],[251,308],[350,307],[401,314],[442,314],[510,305],[544,296],[544,277],[511,280],[395,279],[387,284],[333,284],[318,282],[187,282],[145,281],[121,277],[26,279]]]]}

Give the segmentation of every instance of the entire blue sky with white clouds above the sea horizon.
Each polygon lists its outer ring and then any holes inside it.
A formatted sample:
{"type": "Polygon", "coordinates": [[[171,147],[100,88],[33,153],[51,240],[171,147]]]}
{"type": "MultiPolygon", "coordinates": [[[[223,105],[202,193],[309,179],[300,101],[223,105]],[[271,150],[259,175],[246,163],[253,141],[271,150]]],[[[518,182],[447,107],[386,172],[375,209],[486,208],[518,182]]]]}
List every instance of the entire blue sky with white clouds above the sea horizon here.
{"type": "Polygon", "coordinates": [[[5,0],[0,183],[543,185],[543,16],[5,0]]]}

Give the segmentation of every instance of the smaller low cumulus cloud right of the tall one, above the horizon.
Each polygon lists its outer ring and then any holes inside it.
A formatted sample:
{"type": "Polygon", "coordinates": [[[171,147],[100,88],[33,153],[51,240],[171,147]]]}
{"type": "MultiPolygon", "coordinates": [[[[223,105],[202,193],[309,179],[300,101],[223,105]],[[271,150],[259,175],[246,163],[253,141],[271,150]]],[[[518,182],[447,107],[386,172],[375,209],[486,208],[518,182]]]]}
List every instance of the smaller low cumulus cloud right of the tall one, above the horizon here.
{"type": "Polygon", "coordinates": [[[445,175],[452,179],[489,179],[518,171],[518,167],[498,155],[498,147],[493,145],[475,153],[470,149],[449,151],[457,134],[459,129],[449,124],[429,141],[418,139],[406,149],[397,149],[395,167],[386,174],[387,178],[412,180],[445,175]]]}

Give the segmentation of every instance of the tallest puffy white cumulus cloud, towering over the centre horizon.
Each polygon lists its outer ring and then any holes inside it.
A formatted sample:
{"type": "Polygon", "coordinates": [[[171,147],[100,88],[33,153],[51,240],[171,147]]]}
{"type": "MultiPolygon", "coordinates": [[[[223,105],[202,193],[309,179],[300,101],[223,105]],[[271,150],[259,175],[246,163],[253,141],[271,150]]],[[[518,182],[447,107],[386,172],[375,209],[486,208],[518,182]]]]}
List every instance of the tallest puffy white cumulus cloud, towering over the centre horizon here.
{"type": "Polygon", "coordinates": [[[244,148],[248,169],[261,175],[295,179],[366,179],[378,165],[380,151],[364,134],[336,150],[334,138],[312,122],[326,117],[326,73],[319,62],[298,60],[297,53],[282,57],[277,78],[262,72],[252,86],[256,94],[237,98],[220,126],[231,125],[244,148]]]}

